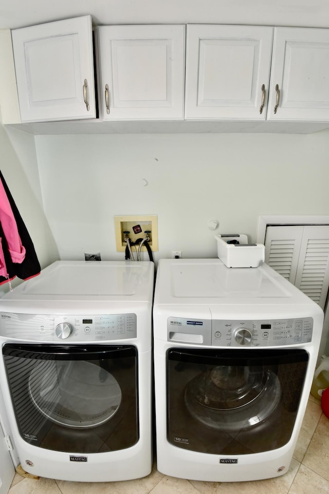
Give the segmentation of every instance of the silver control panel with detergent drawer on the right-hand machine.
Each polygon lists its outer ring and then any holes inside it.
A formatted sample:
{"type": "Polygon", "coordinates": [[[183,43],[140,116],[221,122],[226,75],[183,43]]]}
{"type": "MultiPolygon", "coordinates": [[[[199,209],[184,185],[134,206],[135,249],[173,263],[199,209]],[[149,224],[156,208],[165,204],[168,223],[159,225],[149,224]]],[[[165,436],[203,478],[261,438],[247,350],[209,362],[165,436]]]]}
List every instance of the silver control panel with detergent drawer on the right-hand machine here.
{"type": "Polygon", "coordinates": [[[313,318],[196,320],[169,317],[168,341],[218,347],[266,347],[309,343],[313,318]]]}

